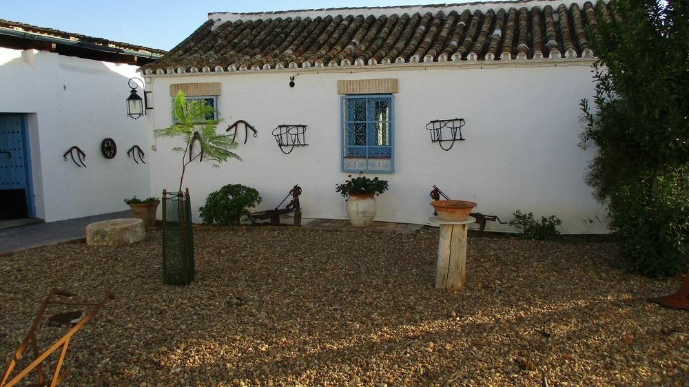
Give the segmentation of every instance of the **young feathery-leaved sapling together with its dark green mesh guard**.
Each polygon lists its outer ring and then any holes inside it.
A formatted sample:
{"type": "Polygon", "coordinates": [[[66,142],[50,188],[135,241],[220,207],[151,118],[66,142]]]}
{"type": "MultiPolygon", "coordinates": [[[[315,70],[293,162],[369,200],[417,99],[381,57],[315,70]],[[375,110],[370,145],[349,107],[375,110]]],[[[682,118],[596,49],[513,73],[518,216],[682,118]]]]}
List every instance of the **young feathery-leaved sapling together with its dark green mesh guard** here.
{"type": "Polygon", "coordinates": [[[176,192],[163,190],[163,282],[187,285],[194,280],[194,231],[189,189],[182,192],[184,174],[194,161],[210,161],[213,167],[230,158],[241,160],[232,152],[238,146],[232,137],[216,133],[218,121],[208,120],[213,107],[204,101],[187,101],[178,92],[172,106],[174,123],[155,129],[156,138],[175,138],[182,143],[174,147],[182,155],[182,173],[176,192]]]}

